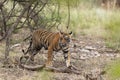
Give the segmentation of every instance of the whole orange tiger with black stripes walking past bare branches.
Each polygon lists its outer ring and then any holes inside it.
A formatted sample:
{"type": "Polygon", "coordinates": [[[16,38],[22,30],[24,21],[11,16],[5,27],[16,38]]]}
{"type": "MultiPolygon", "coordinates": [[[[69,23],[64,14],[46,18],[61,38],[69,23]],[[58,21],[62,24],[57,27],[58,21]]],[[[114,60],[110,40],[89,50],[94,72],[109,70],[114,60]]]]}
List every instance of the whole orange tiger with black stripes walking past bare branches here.
{"type": "Polygon", "coordinates": [[[66,66],[69,67],[71,65],[71,54],[69,51],[71,35],[72,31],[69,33],[62,31],[54,33],[44,29],[38,29],[32,33],[32,38],[27,51],[22,51],[24,56],[29,54],[30,60],[34,61],[34,56],[44,47],[45,50],[48,50],[45,66],[53,66],[53,51],[58,52],[62,50],[66,66]]]}

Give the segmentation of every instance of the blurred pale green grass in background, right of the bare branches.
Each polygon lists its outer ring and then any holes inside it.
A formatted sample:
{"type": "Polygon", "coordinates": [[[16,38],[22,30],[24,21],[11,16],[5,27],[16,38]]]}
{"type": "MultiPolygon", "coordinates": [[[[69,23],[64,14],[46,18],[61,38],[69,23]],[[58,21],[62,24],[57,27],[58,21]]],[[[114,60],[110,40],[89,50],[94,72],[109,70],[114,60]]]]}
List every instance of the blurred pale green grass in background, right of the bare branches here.
{"type": "MultiPolygon", "coordinates": [[[[106,10],[104,7],[93,6],[92,3],[97,2],[96,0],[88,2],[80,0],[76,7],[70,6],[70,29],[74,35],[84,34],[102,37],[106,40],[108,47],[120,50],[119,8],[106,10]]],[[[68,19],[67,6],[61,6],[60,16],[62,19],[61,25],[66,26],[68,19]]]]}

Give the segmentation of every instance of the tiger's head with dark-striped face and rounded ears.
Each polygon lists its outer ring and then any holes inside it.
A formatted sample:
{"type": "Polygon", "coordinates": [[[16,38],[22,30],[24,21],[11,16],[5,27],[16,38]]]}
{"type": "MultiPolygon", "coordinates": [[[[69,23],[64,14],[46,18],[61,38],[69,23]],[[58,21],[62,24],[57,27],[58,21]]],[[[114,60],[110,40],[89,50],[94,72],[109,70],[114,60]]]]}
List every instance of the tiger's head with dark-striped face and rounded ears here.
{"type": "Polygon", "coordinates": [[[67,51],[67,49],[69,48],[72,32],[65,33],[60,31],[59,34],[60,34],[59,45],[63,51],[67,51]]]}

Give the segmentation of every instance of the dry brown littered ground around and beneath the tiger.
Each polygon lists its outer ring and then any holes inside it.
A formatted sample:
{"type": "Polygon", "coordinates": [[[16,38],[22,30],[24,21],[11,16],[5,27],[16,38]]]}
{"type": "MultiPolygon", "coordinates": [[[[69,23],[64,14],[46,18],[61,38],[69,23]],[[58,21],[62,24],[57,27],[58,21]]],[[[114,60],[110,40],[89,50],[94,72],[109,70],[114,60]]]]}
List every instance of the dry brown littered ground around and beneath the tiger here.
{"type": "MultiPolygon", "coordinates": [[[[45,70],[30,71],[20,68],[15,59],[22,55],[22,48],[27,46],[22,43],[11,47],[9,68],[4,67],[4,41],[0,43],[0,80],[87,80],[85,74],[90,74],[94,80],[109,80],[106,74],[100,74],[106,70],[105,66],[120,57],[120,54],[107,48],[104,39],[90,36],[79,36],[70,43],[71,64],[76,66],[81,74],[58,73],[45,70]]],[[[47,51],[41,50],[35,57],[35,65],[42,64],[46,60],[47,51]],[[44,53],[44,54],[42,54],[44,53]]],[[[65,66],[62,52],[55,52],[53,63],[55,67],[65,66]]],[[[107,71],[106,71],[107,73],[107,71]]],[[[89,79],[88,79],[89,80],[89,79]]]]}

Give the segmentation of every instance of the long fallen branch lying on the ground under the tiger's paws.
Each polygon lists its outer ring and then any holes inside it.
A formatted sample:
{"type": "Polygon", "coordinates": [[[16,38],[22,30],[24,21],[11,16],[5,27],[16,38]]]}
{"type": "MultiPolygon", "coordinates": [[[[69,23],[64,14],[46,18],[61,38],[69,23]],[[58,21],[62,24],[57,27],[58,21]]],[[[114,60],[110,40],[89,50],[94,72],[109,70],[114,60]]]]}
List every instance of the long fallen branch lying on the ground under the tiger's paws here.
{"type": "Polygon", "coordinates": [[[36,66],[30,66],[30,65],[28,66],[28,65],[21,64],[21,63],[19,64],[19,66],[23,69],[32,70],[32,71],[38,71],[38,70],[45,69],[45,70],[51,71],[51,72],[82,74],[82,72],[80,70],[72,68],[72,66],[55,68],[55,67],[45,67],[45,64],[44,65],[36,65],[36,66]]]}

